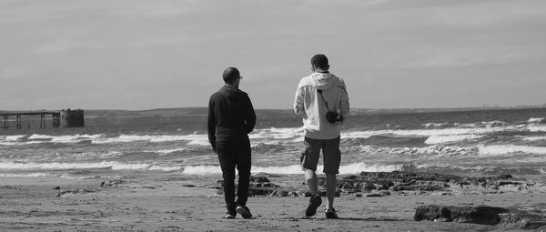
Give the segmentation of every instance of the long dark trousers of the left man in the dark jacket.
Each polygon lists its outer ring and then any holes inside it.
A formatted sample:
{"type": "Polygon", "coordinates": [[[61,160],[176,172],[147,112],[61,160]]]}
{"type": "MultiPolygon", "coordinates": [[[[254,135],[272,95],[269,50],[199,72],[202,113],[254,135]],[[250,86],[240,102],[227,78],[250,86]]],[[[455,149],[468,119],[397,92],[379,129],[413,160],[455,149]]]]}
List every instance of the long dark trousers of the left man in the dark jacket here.
{"type": "Polygon", "coordinates": [[[222,177],[224,177],[224,198],[227,211],[235,212],[238,206],[244,207],[248,200],[251,150],[248,136],[236,139],[217,139],[216,152],[222,177]],[[238,170],[237,202],[235,201],[235,168],[238,170]]]}

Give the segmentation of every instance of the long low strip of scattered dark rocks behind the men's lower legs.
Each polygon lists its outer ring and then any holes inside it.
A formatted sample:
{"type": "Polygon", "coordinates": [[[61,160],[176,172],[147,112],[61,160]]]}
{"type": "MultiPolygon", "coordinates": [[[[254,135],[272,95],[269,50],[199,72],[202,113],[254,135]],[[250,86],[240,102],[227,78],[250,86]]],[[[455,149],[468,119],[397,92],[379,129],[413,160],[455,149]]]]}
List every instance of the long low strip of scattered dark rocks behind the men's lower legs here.
{"type": "MultiPolygon", "coordinates": [[[[298,187],[280,187],[260,175],[250,177],[249,196],[309,197],[311,194],[305,182],[298,187]]],[[[207,187],[217,188],[223,194],[222,180],[207,187]]],[[[326,196],[326,178],[319,177],[319,194],[326,196]]],[[[502,191],[525,191],[540,189],[542,183],[501,175],[498,177],[459,177],[449,174],[417,172],[362,172],[360,175],[342,177],[337,183],[336,196],[385,197],[390,195],[432,194],[498,194],[502,191]]]]}

